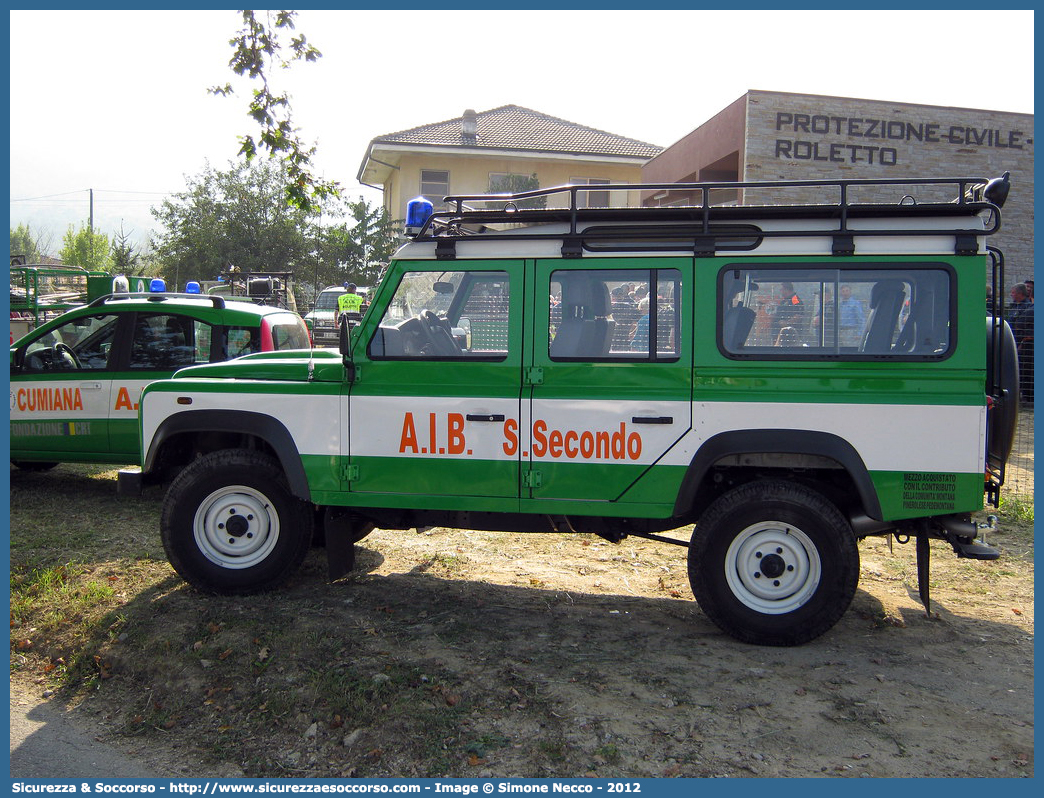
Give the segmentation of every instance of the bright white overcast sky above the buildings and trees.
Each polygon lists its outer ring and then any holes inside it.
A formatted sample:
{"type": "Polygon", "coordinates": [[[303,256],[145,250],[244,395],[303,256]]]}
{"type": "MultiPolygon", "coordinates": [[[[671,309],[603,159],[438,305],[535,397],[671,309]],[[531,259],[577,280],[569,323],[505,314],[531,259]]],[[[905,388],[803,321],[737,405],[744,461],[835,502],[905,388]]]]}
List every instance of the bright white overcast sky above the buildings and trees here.
{"type": "MultiPolygon", "coordinates": [[[[250,81],[232,10],[10,11],[10,224],[159,230],[149,209],[227,168],[250,81]],[[207,89],[232,81],[237,96],[207,89]]],[[[1033,11],[302,10],[323,52],[276,75],[349,197],[387,133],[523,105],[667,146],[751,89],[1034,112],[1033,11]]],[[[284,43],[288,38],[284,37],[284,43]]]]}

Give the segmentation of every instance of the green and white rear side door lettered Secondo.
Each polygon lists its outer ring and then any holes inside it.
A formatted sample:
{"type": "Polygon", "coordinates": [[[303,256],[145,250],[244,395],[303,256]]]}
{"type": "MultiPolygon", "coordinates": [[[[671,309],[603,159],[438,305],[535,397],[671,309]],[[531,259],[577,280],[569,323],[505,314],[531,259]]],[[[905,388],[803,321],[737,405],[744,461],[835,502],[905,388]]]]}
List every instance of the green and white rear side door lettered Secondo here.
{"type": "Polygon", "coordinates": [[[536,262],[523,498],[620,500],[689,430],[691,275],[691,258],[536,262]]]}

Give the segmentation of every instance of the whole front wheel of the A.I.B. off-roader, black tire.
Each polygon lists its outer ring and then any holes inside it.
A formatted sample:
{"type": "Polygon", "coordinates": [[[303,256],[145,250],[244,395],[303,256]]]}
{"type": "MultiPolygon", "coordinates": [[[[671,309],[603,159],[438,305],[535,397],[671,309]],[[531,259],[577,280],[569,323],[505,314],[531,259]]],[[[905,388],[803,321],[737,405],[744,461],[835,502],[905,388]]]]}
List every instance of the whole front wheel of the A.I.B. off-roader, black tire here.
{"type": "Polygon", "coordinates": [[[226,449],[195,460],[171,483],[160,529],[186,582],[210,593],[247,594],[290,578],[308,554],[313,523],[312,506],[291,494],[276,460],[226,449]]]}

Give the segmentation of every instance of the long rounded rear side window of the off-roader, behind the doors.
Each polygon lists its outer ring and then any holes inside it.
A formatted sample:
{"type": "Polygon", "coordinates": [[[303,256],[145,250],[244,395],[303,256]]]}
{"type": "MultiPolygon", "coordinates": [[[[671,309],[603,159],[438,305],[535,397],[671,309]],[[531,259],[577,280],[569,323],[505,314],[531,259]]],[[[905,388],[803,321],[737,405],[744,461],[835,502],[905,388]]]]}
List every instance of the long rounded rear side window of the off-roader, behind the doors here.
{"type": "Polygon", "coordinates": [[[726,354],[939,358],[950,348],[944,268],[732,268],[719,284],[726,354]]]}

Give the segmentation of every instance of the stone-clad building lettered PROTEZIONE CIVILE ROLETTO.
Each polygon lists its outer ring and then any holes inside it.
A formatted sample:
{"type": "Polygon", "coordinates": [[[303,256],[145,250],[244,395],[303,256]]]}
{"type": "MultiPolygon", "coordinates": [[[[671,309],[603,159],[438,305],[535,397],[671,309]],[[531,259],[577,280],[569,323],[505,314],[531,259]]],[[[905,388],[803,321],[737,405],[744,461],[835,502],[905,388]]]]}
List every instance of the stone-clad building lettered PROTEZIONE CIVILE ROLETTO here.
{"type": "MultiPolygon", "coordinates": [[[[991,243],[1004,252],[1012,284],[1034,274],[1031,114],[749,91],[649,160],[642,182],[994,178],[1004,171],[1012,173],[1012,191],[991,243]]],[[[853,198],[902,198],[863,191],[853,198]]],[[[910,186],[907,193],[938,198],[925,187],[910,186]]],[[[831,202],[836,195],[809,190],[806,198],[831,202]]],[[[712,202],[760,204],[773,196],[717,192],[712,202]]],[[[646,205],[693,199],[675,191],[643,196],[646,205]]]]}

